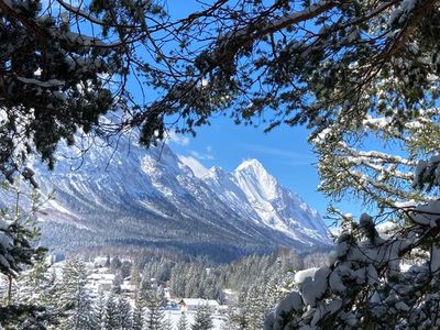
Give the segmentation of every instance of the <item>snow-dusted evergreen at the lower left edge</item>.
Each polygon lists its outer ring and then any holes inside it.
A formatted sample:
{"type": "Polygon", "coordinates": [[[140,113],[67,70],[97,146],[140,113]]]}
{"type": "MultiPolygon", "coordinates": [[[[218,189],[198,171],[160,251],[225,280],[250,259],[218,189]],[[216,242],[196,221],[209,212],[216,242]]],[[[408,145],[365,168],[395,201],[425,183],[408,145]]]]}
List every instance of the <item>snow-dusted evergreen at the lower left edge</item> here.
{"type": "Polygon", "coordinates": [[[47,327],[53,317],[46,309],[51,286],[44,268],[46,249],[35,246],[40,232],[34,217],[42,201],[20,182],[1,183],[0,189],[3,202],[9,204],[0,210],[0,276],[7,283],[6,300],[0,301],[0,327],[47,327]],[[16,282],[20,276],[26,277],[23,286],[16,282]],[[14,283],[19,286],[15,290],[14,283]]]}

